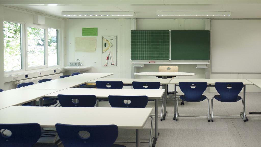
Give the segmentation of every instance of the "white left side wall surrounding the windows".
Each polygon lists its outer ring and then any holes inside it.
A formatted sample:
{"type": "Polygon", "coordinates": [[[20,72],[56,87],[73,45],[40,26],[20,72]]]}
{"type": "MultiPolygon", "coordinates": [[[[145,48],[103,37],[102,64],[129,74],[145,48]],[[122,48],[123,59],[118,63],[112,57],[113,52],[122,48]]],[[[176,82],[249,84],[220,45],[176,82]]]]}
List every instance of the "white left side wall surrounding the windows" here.
{"type": "MultiPolygon", "coordinates": [[[[63,28],[64,28],[64,20],[63,19],[59,19],[59,18],[55,18],[55,17],[50,17],[47,16],[45,14],[40,14],[37,12],[31,12],[31,11],[23,11],[23,10],[19,10],[19,9],[14,9],[14,8],[9,8],[9,7],[3,7],[2,5],[0,5],[0,44],[1,44],[1,53],[0,53],[0,88],[3,88],[4,90],[8,90],[8,89],[13,89],[16,88],[16,84],[14,84],[15,81],[12,82],[6,82],[4,83],[4,81],[10,81],[9,79],[12,77],[4,77],[3,73],[4,73],[4,60],[3,60],[3,21],[11,21],[11,22],[17,22],[17,23],[26,23],[26,24],[33,24],[33,15],[34,14],[39,14],[39,15],[44,15],[45,16],[45,25],[39,25],[39,26],[46,26],[46,27],[50,27],[50,28],[54,28],[54,29],[60,29],[60,48],[61,51],[60,52],[62,54],[61,58],[63,60],[63,28]]],[[[24,27],[24,26],[23,26],[24,27]]],[[[62,63],[63,65],[63,63],[62,63]]],[[[50,69],[40,69],[41,73],[44,73],[42,75],[45,74],[53,74],[53,72],[50,71],[50,69]]],[[[35,76],[36,71],[39,70],[32,70],[32,71],[28,71],[31,73],[28,73],[28,77],[30,77],[31,75],[35,76]]],[[[56,70],[57,71],[57,70],[56,70]]],[[[39,76],[39,74],[38,74],[39,76]]],[[[21,75],[18,76],[19,79],[21,77],[21,75]]],[[[25,76],[22,76],[25,77],[25,76]]],[[[33,76],[32,76],[33,77],[33,76]]]]}

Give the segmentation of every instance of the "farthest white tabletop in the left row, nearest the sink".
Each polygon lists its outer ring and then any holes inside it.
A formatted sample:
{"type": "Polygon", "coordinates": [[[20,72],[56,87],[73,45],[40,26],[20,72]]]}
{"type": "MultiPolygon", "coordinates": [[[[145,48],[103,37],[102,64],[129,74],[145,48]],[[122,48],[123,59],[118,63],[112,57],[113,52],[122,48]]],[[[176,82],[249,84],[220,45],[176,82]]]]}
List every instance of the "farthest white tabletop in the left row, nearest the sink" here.
{"type": "Polygon", "coordinates": [[[110,75],[113,75],[114,73],[81,73],[79,75],[69,76],[65,77],[64,79],[97,79],[97,78],[103,78],[110,75]]]}

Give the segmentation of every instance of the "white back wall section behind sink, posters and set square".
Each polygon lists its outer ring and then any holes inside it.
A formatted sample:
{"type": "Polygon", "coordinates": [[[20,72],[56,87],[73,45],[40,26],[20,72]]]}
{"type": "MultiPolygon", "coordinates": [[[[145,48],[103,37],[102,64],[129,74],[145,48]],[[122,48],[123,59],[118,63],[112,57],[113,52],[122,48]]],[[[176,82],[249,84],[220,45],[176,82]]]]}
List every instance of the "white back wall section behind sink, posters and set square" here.
{"type": "Polygon", "coordinates": [[[65,21],[66,63],[81,61],[83,66],[92,66],[86,72],[114,73],[110,77],[131,77],[131,19],[69,19],[65,21]],[[75,52],[75,37],[81,37],[82,27],[98,27],[95,53],[75,52]],[[103,67],[102,36],[118,36],[118,67],[103,67]]]}

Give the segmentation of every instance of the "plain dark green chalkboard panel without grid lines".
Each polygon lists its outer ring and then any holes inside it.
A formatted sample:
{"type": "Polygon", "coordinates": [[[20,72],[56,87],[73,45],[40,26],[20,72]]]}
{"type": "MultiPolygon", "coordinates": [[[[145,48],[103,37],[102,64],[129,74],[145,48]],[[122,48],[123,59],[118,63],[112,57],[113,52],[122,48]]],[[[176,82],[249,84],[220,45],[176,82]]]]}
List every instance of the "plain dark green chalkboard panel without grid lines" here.
{"type": "Polygon", "coordinates": [[[209,60],[210,31],[171,30],[171,60],[209,60]]]}

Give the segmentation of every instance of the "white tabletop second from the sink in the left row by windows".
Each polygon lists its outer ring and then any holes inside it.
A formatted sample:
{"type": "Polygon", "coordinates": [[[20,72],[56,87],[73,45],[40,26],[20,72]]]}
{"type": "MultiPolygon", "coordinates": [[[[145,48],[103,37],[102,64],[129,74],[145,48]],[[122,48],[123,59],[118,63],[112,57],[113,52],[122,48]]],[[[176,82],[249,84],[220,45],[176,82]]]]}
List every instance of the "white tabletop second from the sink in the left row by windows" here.
{"type": "Polygon", "coordinates": [[[81,84],[85,84],[87,81],[90,81],[93,79],[56,79],[52,81],[47,81],[43,83],[37,83],[34,85],[29,85],[25,87],[21,87],[18,89],[56,89],[56,90],[62,90],[66,88],[76,87],[81,84]]]}

